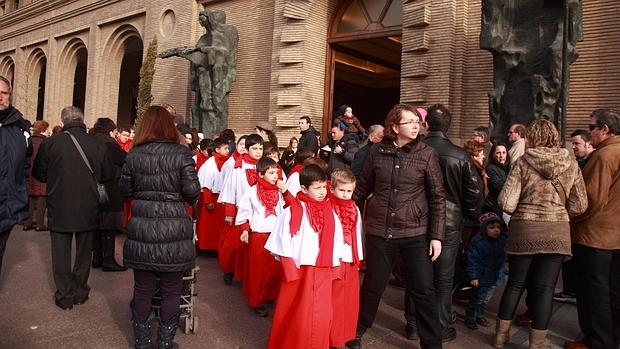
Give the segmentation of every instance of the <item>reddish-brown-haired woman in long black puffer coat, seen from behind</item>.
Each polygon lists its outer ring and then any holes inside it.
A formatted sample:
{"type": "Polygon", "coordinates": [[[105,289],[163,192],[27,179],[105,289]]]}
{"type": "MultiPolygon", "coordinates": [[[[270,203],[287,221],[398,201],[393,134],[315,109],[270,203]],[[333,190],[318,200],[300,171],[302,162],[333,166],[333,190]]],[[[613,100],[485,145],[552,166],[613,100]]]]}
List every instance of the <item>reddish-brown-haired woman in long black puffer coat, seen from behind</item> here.
{"type": "Polygon", "coordinates": [[[179,324],[183,272],[195,266],[192,219],[185,203],[200,194],[190,150],[177,144],[172,115],[151,106],[142,119],[123,166],[121,193],[133,198],[125,265],[134,269],[131,304],[136,348],[151,347],[151,303],[160,278],[161,308],[157,344],[172,348],[179,324]]]}

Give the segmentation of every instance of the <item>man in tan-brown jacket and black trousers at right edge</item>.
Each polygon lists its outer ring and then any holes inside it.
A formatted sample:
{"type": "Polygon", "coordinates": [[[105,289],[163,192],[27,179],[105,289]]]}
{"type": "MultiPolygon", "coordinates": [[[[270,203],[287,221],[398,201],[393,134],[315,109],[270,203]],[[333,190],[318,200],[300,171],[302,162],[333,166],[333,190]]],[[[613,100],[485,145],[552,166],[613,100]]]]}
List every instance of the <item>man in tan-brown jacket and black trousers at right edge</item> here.
{"type": "Polygon", "coordinates": [[[588,210],[572,221],[579,325],[583,341],[568,349],[620,347],[620,115],[598,109],[590,116],[596,150],[583,169],[588,210]]]}

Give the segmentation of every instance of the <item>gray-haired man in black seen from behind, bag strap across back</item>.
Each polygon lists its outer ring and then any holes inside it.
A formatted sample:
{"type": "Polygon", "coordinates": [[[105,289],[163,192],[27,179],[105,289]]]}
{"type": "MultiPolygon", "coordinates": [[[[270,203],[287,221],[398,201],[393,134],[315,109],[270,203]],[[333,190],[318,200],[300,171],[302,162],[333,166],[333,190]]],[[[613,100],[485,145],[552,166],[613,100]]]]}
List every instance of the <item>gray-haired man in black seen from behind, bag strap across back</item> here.
{"type": "Polygon", "coordinates": [[[106,145],[86,133],[84,114],[66,107],[60,114],[63,132],[41,143],[32,175],[47,183],[47,225],[52,241],[55,302],[69,310],[88,299],[93,230],[97,228],[99,193],[97,182],[113,179],[114,168],[106,145]],[[90,167],[72,137],[82,148],[90,167]],[[71,244],[75,235],[75,263],[71,267],[71,244]]]}

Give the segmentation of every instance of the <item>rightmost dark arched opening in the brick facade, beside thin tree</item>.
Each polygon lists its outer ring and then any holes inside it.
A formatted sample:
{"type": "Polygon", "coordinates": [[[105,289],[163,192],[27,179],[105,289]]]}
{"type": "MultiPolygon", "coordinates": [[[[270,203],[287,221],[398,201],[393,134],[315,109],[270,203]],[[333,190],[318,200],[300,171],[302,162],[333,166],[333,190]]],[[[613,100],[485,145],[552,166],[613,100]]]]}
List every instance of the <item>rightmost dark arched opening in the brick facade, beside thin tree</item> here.
{"type": "Polygon", "coordinates": [[[136,120],[142,48],[142,40],[137,36],[129,37],[124,43],[118,86],[117,124],[119,126],[133,125],[136,120]]]}

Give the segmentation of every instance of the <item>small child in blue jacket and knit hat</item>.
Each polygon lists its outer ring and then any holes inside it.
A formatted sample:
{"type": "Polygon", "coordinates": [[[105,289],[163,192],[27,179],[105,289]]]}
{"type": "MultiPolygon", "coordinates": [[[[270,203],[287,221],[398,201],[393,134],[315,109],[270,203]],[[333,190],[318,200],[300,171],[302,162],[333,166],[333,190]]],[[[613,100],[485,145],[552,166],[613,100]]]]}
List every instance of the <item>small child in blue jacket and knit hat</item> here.
{"type": "Polygon", "coordinates": [[[493,296],[495,286],[504,283],[506,236],[501,235],[500,218],[493,212],[480,215],[480,233],[475,235],[465,250],[467,278],[474,287],[465,311],[465,325],[478,329],[489,327],[491,322],[484,311],[493,296]]]}

